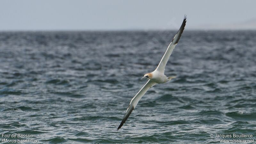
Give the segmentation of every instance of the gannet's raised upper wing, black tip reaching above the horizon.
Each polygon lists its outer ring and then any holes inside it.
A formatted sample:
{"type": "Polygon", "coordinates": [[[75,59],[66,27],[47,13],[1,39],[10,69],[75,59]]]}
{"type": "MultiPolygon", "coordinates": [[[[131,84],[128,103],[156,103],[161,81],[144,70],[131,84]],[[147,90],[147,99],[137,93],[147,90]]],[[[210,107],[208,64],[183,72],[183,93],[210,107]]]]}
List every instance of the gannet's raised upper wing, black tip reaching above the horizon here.
{"type": "Polygon", "coordinates": [[[167,61],[169,60],[173,49],[175,48],[175,46],[178,44],[179,40],[180,40],[180,36],[185,28],[186,25],[186,16],[184,17],[184,20],[180,26],[179,31],[177,32],[177,34],[174,36],[171,44],[168,46],[166,52],[164,53],[164,56],[162,58],[162,60],[160,61],[159,65],[157,66],[156,70],[158,70],[161,73],[164,73],[164,68],[166,66],[167,61]]]}

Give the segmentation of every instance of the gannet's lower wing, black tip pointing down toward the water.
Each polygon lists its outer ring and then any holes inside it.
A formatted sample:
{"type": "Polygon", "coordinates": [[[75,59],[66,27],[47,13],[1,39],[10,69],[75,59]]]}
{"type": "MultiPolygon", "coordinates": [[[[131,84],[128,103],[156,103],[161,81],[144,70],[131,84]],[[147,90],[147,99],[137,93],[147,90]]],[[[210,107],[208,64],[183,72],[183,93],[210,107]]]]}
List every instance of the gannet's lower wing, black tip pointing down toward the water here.
{"type": "Polygon", "coordinates": [[[118,126],[118,128],[116,129],[116,131],[118,131],[123,124],[125,123],[125,121],[127,120],[127,118],[130,116],[130,114],[132,113],[132,110],[137,106],[139,100],[142,98],[142,96],[148,91],[148,89],[152,86],[154,86],[156,83],[152,82],[152,80],[148,80],[148,82],[140,89],[140,91],[132,98],[129,107],[126,110],[126,113],[124,115],[124,118],[121,122],[121,124],[118,126]]]}

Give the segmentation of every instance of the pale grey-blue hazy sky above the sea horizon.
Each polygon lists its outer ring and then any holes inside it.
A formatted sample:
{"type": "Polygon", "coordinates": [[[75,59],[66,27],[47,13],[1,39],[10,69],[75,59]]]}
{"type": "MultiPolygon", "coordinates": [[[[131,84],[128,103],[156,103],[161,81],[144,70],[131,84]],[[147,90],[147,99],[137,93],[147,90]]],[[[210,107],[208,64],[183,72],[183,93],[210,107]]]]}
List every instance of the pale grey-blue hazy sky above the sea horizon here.
{"type": "Polygon", "coordinates": [[[255,0],[1,0],[0,31],[177,29],[184,14],[188,29],[253,29],[255,5],[255,0]]]}

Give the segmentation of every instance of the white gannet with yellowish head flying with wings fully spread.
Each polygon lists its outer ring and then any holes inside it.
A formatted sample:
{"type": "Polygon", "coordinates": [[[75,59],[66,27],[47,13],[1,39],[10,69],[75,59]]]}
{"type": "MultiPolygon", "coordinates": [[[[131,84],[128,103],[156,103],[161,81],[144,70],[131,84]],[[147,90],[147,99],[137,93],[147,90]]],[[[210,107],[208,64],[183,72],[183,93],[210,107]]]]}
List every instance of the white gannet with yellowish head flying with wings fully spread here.
{"type": "Polygon", "coordinates": [[[151,73],[147,73],[144,75],[144,77],[142,77],[141,79],[148,79],[148,82],[140,89],[140,91],[132,98],[129,107],[126,110],[126,113],[124,115],[124,118],[121,122],[121,124],[118,126],[118,128],[116,129],[116,131],[118,131],[123,124],[125,123],[125,121],[127,120],[127,118],[130,116],[130,114],[132,113],[132,110],[137,106],[139,100],[142,98],[142,96],[148,91],[148,89],[156,84],[163,84],[166,82],[169,82],[172,78],[175,78],[176,76],[173,77],[167,77],[164,75],[164,68],[166,66],[167,61],[169,60],[173,49],[175,48],[175,46],[178,44],[179,40],[180,40],[180,36],[185,28],[186,25],[186,16],[184,17],[184,20],[180,26],[179,31],[177,32],[177,34],[174,36],[174,38],[172,39],[171,44],[169,44],[166,52],[164,53],[164,56],[162,58],[162,60],[160,61],[159,65],[157,66],[156,70],[154,70],[151,73]]]}

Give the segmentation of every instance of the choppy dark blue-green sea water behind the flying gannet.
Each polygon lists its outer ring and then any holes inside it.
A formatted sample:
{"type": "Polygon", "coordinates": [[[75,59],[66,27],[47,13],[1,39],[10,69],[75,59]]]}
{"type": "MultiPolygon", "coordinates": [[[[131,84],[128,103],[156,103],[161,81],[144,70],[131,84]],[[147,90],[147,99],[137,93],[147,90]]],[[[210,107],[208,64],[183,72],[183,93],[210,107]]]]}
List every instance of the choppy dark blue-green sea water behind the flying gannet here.
{"type": "Polygon", "coordinates": [[[146,83],[140,78],[175,34],[0,32],[0,140],[2,133],[38,143],[220,143],[210,134],[233,133],[256,140],[256,31],[185,29],[165,67],[177,77],[149,89],[116,132],[146,83]]]}

